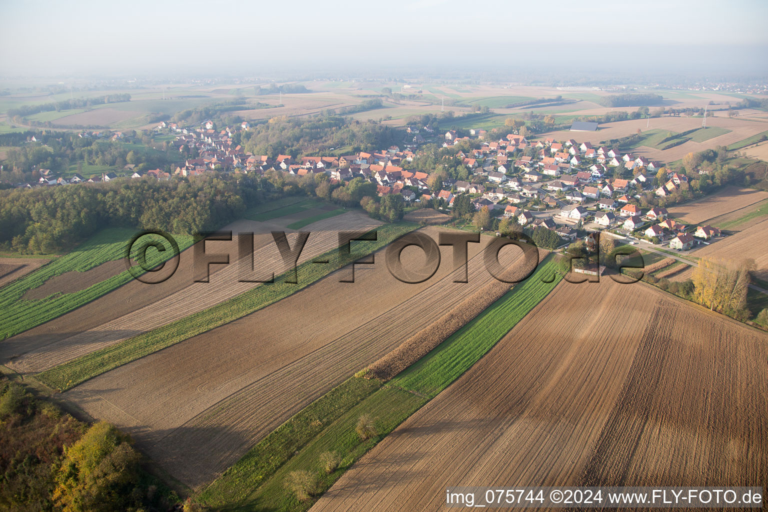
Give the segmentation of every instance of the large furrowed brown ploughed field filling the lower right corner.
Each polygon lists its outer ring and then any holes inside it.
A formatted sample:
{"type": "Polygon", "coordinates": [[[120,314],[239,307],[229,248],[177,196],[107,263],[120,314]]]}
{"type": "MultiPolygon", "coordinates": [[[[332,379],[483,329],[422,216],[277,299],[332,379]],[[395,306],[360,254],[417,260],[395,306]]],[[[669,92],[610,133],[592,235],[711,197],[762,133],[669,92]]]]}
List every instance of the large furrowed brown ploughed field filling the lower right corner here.
{"type": "Polygon", "coordinates": [[[442,510],[446,487],[489,483],[765,485],[766,358],[763,333],[650,286],[561,282],[312,510],[442,510]]]}

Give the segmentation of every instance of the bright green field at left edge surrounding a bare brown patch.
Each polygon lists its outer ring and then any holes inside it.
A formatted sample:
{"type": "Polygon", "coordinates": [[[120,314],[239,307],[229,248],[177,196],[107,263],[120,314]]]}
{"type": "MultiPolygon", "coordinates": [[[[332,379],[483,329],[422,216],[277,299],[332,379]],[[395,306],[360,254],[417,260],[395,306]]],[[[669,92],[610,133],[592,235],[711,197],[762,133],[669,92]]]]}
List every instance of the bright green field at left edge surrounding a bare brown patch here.
{"type": "MultiPolygon", "coordinates": [[[[136,230],[123,228],[102,230],[65,256],[54,259],[48,265],[0,289],[0,309],[3,312],[0,339],[6,339],[55,319],[133,279],[125,270],[117,276],[78,292],[59,293],[45,299],[22,299],[25,292],[41,286],[51,277],[71,271],[85,272],[101,263],[123,258],[127,242],[136,233],[136,230]]],[[[191,246],[193,242],[192,236],[174,236],[174,238],[180,250],[191,246]]],[[[147,256],[147,263],[154,266],[174,255],[170,251],[158,253],[156,250],[151,250],[147,251],[147,256]]]]}

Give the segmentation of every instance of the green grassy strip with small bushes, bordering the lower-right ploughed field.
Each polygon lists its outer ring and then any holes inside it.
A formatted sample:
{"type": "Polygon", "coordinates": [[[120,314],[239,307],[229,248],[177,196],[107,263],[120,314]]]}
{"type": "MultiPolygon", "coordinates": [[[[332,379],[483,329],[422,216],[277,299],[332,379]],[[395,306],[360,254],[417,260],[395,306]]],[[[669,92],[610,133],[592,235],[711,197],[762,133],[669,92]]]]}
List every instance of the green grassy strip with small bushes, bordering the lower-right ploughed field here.
{"type": "Polygon", "coordinates": [[[283,485],[291,471],[317,474],[319,488],[328,489],[355,461],[475,364],[541,302],[560,282],[559,269],[549,256],[525,282],[389,383],[350,378],[339,385],[273,431],[202,491],[197,500],[223,510],[307,510],[313,500],[301,502],[283,485]],[[368,440],[361,440],[355,430],[363,414],[376,418],[376,436],[368,440]],[[319,464],[320,454],[326,451],[336,451],[341,458],[339,468],[330,474],[319,464]]]}

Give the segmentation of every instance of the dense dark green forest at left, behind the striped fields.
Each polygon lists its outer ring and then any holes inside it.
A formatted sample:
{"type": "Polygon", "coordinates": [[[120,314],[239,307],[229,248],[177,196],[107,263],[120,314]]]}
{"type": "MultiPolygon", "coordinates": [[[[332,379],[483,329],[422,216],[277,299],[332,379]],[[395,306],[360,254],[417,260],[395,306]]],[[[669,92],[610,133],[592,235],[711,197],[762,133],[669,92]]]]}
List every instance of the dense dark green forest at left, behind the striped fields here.
{"type": "Polygon", "coordinates": [[[240,218],[260,200],[250,177],[114,180],[0,191],[0,246],[55,253],[107,226],[200,233],[240,218]]]}

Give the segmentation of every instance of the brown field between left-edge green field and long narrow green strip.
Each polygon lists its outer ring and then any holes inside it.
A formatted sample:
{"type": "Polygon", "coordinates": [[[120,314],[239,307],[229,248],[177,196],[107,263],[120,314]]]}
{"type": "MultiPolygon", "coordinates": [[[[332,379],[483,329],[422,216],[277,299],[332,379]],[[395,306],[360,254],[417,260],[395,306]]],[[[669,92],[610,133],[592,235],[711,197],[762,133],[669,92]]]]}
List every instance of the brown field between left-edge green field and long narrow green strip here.
{"type": "MultiPolygon", "coordinates": [[[[257,272],[269,278],[288,267],[269,234],[291,216],[259,223],[240,220],[223,228],[233,233],[255,232],[254,264],[257,272]],[[266,233],[264,231],[266,230],[266,233]]],[[[338,232],[342,230],[367,231],[379,221],[358,212],[349,212],[310,224],[303,231],[310,232],[299,263],[319,256],[339,245],[338,232]]],[[[280,228],[282,230],[282,228],[280,228]]],[[[288,233],[293,247],[298,235],[288,233]]],[[[207,253],[228,253],[230,265],[211,266],[209,282],[194,282],[194,256],[190,249],[181,253],[179,269],[167,281],[147,285],[131,281],[113,292],[75,309],[58,319],[13,336],[0,343],[0,360],[12,358],[10,365],[16,372],[41,372],[98,348],[113,345],[131,336],[147,332],[174,320],[202,311],[219,302],[240,295],[258,286],[256,282],[240,282],[237,265],[237,240],[206,243],[207,253]]]]}

